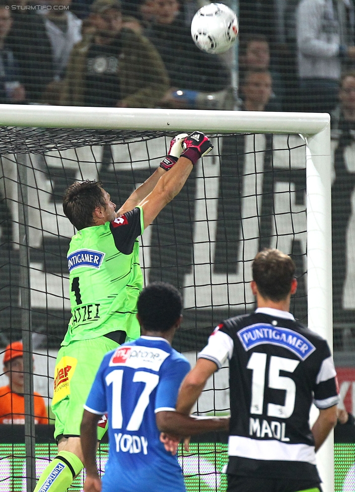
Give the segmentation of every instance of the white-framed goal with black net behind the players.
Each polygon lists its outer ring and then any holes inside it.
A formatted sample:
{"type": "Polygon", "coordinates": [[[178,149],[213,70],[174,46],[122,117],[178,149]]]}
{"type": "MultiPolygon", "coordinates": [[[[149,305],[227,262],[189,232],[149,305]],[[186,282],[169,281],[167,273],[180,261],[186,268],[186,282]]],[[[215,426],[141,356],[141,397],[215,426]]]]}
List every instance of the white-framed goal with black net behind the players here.
{"type": "MultiPolygon", "coordinates": [[[[140,248],[145,283],[170,282],[183,295],[184,321],[175,348],[193,365],[217,324],[253,309],[251,262],[264,247],[292,256],[299,284],[292,312],[331,343],[325,117],[50,109],[9,106],[0,117],[0,346],[4,352],[8,343],[23,339],[25,351],[27,347],[34,354],[33,388],[48,405],[55,356],[70,316],[66,252],[75,231],[62,211],[63,193],[75,180],[98,179],[112,200],[122,204],[157,168],[170,139],[182,130],[204,131],[214,149],[144,232],[140,248]]],[[[31,373],[30,363],[28,367],[31,373]]],[[[28,378],[31,383],[32,375],[28,378]]],[[[7,382],[1,375],[0,386],[7,382]]],[[[229,412],[228,367],[208,383],[196,412],[229,412]]],[[[38,477],[55,453],[49,433],[30,426],[37,435],[36,445],[26,442],[37,454],[31,465],[24,445],[16,442],[21,432],[11,427],[8,442],[0,443],[1,492],[29,487],[29,470],[36,466],[38,477]]],[[[188,491],[224,489],[226,437],[218,439],[207,436],[180,456],[188,491]]],[[[328,448],[327,463],[332,460],[328,448]]],[[[103,444],[102,469],[106,452],[103,444]]],[[[332,475],[329,469],[326,473],[327,487],[332,475]]],[[[82,486],[82,479],[74,489],[82,486]]]]}

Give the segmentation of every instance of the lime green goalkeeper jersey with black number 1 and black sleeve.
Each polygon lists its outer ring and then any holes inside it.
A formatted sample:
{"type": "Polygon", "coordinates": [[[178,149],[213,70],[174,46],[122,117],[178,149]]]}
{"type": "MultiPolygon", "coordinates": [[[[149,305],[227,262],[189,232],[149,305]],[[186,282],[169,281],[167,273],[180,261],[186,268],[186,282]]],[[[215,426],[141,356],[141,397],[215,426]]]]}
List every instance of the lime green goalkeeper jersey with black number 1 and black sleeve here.
{"type": "Polygon", "coordinates": [[[139,243],[140,207],[72,237],[67,254],[72,318],[61,345],[123,330],[139,337],[136,304],[143,288],[139,243]]]}

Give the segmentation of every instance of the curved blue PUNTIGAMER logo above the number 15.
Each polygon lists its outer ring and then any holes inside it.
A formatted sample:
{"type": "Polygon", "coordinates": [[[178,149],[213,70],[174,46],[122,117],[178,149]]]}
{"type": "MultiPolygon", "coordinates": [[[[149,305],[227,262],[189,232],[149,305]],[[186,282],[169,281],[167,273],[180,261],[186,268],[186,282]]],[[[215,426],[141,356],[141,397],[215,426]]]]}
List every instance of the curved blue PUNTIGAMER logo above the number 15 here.
{"type": "Polygon", "coordinates": [[[238,332],[244,350],[250,350],[256,345],[270,343],[287,348],[305,360],[316,347],[303,335],[288,328],[275,327],[264,323],[247,326],[238,332]]]}

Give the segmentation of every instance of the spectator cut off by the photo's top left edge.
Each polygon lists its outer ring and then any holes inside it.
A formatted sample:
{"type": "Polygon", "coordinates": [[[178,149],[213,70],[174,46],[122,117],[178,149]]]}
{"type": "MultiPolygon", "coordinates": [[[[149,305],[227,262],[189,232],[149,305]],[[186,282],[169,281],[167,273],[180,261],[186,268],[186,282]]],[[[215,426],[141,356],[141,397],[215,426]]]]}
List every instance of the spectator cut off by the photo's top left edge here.
{"type": "Polygon", "coordinates": [[[7,44],[11,26],[11,11],[2,0],[0,2],[0,102],[7,104],[23,102],[26,99],[25,88],[20,83],[17,61],[7,44]]]}

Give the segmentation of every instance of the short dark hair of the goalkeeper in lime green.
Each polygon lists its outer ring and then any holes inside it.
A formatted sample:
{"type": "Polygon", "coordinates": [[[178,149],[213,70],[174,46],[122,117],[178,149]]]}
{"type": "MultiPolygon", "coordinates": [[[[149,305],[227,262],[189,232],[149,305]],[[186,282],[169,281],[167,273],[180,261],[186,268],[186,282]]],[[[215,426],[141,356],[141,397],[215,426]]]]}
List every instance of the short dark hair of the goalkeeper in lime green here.
{"type": "Polygon", "coordinates": [[[106,203],[102,183],[95,179],[76,181],[64,194],[64,214],[78,230],[94,225],[93,213],[96,207],[106,208],[106,203]]]}

